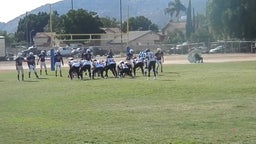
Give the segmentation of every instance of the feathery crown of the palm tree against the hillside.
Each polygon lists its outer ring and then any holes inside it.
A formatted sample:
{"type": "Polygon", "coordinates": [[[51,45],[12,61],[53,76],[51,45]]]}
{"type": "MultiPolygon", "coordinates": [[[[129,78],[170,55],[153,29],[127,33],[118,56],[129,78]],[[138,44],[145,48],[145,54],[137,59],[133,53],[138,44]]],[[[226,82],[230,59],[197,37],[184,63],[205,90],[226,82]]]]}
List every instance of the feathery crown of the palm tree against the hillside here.
{"type": "Polygon", "coordinates": [[[176,13],[175,17],[177,18],[177,21],[179,21],[178,16],[181,11],[186,12],[186,7],[180,2],[180,0],[170,1],[168,3],[168,7],[164,9],[164,13],[169,14],[171,17],[176,13]]]}

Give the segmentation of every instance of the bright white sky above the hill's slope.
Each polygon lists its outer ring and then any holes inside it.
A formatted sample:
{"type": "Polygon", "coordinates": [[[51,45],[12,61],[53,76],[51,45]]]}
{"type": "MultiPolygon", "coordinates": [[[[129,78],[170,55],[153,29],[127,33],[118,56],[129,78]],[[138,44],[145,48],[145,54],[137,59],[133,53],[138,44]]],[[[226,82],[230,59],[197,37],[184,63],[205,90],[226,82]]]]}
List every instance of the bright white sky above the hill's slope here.
{"type": "Polygon", "coordinates": [[[5,0],[0,5],[0,22],[8,22],[17,16],[25,14],[45,4],[61,0],[5,0]]]}

